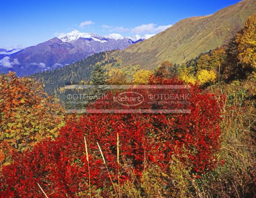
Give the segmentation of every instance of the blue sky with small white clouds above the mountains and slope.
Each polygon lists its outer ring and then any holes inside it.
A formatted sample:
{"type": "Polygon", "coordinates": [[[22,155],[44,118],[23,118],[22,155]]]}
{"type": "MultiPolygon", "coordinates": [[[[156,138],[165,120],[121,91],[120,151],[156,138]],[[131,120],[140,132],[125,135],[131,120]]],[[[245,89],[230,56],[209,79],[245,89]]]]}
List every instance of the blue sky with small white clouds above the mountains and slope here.
{"type": "Polygon", "coordinates": [[[153,34],[183,18],[212,14],[237,2],[239,0],[1,1],[0,47],[27,47],[73,29],[99,35],[153,34]]]}

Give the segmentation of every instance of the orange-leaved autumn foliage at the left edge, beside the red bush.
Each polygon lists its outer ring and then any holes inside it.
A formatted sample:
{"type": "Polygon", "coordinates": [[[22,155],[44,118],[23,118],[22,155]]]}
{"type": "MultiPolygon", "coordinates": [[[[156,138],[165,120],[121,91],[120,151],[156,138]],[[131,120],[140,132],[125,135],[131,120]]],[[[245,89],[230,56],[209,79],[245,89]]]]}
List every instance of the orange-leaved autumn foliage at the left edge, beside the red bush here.
{"type": "Polygon", "coordinates": [[[56,138],[63,110],[43,86],[15,73],[0,75],[0,165],[12,150],[22,152],[44,138],[56,138]]]}

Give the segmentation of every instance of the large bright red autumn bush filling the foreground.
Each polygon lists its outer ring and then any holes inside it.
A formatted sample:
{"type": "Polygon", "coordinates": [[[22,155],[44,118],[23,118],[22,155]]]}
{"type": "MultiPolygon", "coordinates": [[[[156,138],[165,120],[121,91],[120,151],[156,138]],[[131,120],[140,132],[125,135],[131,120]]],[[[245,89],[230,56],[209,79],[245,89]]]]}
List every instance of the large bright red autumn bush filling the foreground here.
{"type": "MultiPolygon", "coordinates": [[[[183,84],[175,78],[155,77],[151,77],[150,83],[183,84]]],[[[151,164],[159,165],[164,172],[174,156],[192,167],[191,174],[214,169],[218,163],[215,152],[220,146],[221,101],[215,95],[201,94],[197,86],[191,86],[189,100],[189,114],[89,114],[79,121],[70,119],[56,141],[38,143],[31,152],[14,153],[14,163],[2,169],[0,198],[43,198],[37,183],[50,198],[89,197],[84,135],[92,193],[98,189],[103,197],[109,197],[113,187],[96,143],[117,183],[117,133],[121,184],[134,175],[140,177],[151,164]]],[[[110,107],[113,103],[109,103],[110,107]]]]}

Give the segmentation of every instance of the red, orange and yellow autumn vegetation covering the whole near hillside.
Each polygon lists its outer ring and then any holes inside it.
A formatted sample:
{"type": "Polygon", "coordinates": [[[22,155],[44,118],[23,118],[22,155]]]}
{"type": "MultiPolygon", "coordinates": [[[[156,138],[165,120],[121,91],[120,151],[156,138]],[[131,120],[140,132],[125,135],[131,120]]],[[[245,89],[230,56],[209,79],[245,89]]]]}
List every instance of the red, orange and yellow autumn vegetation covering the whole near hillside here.
{"type": "MultiPolygon", "coordinates": [[[[255,43],[256,13],[225,45],[184,64],[165,60],[152,71],[108,54],[86,63],[92,84],[189,85],[190,113],[64,118],[38,82],[12,72],[0,75],[0,198],[256,197],[255,43]]],[[[61,82],[75,67],[59,76],[61,82]]],[[[138,89],[125,90],[126,98],[138,89]]],[[[112,90],[84,108],[186,107],[180,99],[161,103],[148,97],[157,90],[140,92],[146,103],[137,106],[133,100],[114,103],[123,92],[112,90]]],[[[160,94],[187,92],[173,90],[160,94]]]]}

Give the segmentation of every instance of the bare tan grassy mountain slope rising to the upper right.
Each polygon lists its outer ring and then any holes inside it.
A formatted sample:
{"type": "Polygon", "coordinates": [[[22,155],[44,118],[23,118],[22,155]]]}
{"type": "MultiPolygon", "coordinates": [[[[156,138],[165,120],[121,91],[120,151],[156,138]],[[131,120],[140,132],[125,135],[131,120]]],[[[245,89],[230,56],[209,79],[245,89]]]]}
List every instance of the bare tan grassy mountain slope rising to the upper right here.
{"type": "Polygon", "coordinates": [[[203,17],[180,20],[169,29],[123,51],[113,52],[124,64],[153,69],[163,60],[183,63],[221,46],[256,11],[256,0],[243,0],[203,17]]]}

